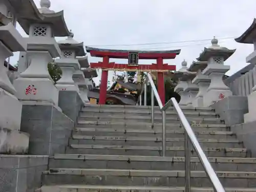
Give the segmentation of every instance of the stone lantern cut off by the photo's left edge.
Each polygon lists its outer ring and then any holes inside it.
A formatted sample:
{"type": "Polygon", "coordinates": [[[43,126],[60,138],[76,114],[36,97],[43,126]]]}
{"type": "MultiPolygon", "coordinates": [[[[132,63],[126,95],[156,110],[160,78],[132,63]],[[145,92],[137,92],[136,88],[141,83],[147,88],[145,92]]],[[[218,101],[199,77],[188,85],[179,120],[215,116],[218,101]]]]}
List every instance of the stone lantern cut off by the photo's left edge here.
{"type": "Polygon", "coordinates": [[[10,13],[6,2],[0,1],[0,153],[26,154],[29,135],[20,132],[22,103],[15,96],[4,62],[13,52],[25,51],[27,45],[12,25],[10,13]]]}

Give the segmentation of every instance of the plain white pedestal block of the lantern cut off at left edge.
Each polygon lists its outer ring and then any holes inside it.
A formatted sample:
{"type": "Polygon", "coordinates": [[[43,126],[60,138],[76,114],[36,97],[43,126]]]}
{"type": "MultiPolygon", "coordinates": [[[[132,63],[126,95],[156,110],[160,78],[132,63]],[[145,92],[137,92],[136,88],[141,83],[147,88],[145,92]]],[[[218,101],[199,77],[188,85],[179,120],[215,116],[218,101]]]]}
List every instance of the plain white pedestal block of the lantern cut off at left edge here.
{"type": "Polygon", "coordinates": [[[0,88],[0,127],[19,130],[22,118],[22,103],[18,99],[0,88]]]}

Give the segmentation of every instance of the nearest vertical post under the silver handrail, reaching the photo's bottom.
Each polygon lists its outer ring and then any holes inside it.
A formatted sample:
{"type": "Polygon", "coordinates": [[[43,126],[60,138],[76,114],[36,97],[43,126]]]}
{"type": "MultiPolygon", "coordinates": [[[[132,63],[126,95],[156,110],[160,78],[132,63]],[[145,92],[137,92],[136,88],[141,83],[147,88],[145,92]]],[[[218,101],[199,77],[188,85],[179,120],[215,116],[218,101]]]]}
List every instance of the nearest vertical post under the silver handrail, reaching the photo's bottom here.
{"type": "Polygon", "coordinates": [[[190,142],[185,131],[185,192],[190,192],[190,142]]]}

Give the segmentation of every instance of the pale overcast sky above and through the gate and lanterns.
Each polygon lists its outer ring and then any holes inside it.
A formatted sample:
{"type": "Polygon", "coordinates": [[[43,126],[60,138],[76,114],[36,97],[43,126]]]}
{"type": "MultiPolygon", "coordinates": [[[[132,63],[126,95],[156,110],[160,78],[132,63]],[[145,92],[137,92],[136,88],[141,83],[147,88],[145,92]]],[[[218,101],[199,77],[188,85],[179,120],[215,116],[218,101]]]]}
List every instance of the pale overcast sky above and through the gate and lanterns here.
{"type": "MultiPolygon", "coordinates": [[[[34,2],[40,7],[39,0],[34,2]]],[[[180,41],[212,39],[216,36],[220,46],[237,49],[225,62],[225,65],[230,65],[227,75],[248,65],[245,58],[253,51],[253,45],[239,44],[233,37],[242,35],[256,17],[255,0],[51,0],[51,3],[51,10],[64,10],[67,26],[74,33],[74,39],[83,41],[84,45],[108,49],[181,49],[175,59],[164,61],[176,65],[177,70],[184,59],[189,66],[204,47],[211,45],[210,40],[180,41]],[[179,43],[158,44],[177,41],[179,43]],[[133,46],[117,46],[124,44],[133,46]]],[[[26,36],[19,26],[17,29],[26,36]]],[[[11,63],[15,63],[17,58],[18,54],[15,54],[11,63]]],[[[98,61],[101,58],[89,56],[89,62],[98,61]]],[[[127,59],[111,61],[126,63],[127,59]]],[[[156,61],[140,60],[144,64],[152,62],[156,61]]],[[[100,79],[100,72],[98,74],[96,81],[100,79]]],[[[111,79],[112,74],[109,75],[111,79]]]]}

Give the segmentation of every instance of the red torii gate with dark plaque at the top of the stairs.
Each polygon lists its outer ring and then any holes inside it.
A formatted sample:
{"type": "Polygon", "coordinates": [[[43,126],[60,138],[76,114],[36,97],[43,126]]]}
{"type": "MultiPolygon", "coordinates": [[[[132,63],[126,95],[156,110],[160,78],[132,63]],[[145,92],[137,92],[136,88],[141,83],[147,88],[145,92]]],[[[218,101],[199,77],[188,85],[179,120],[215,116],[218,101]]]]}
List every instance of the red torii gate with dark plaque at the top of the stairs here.
{"type": "Polygon", "coordinates": [[[91,62],[91,68],[101,68],[101,84],[100,84],[100,96],[98,104],[105,104],[106,91],[108,86],[108,71],[120,70],[120,71],[157,71],[157,87],[158,94],[163,104],[165,104],[165,92],[164,92],[164,72],[175,71],[176,66],[163,63],[163,59],[174,59],[176,55],[180,54],[181,50],[172,51],[129,51],[129,50],[111,50],[111,49],[98,49],[86,47],[86,51],[91,54],[92,57],[102,57],[102,62],[91,62]],[[128,59],[130,53],[137,53],[139,59],[156,59],[157,63],[152,65],[131,65],[121,64],[115,62],[109,62],[110,58],[128,59]]]}

